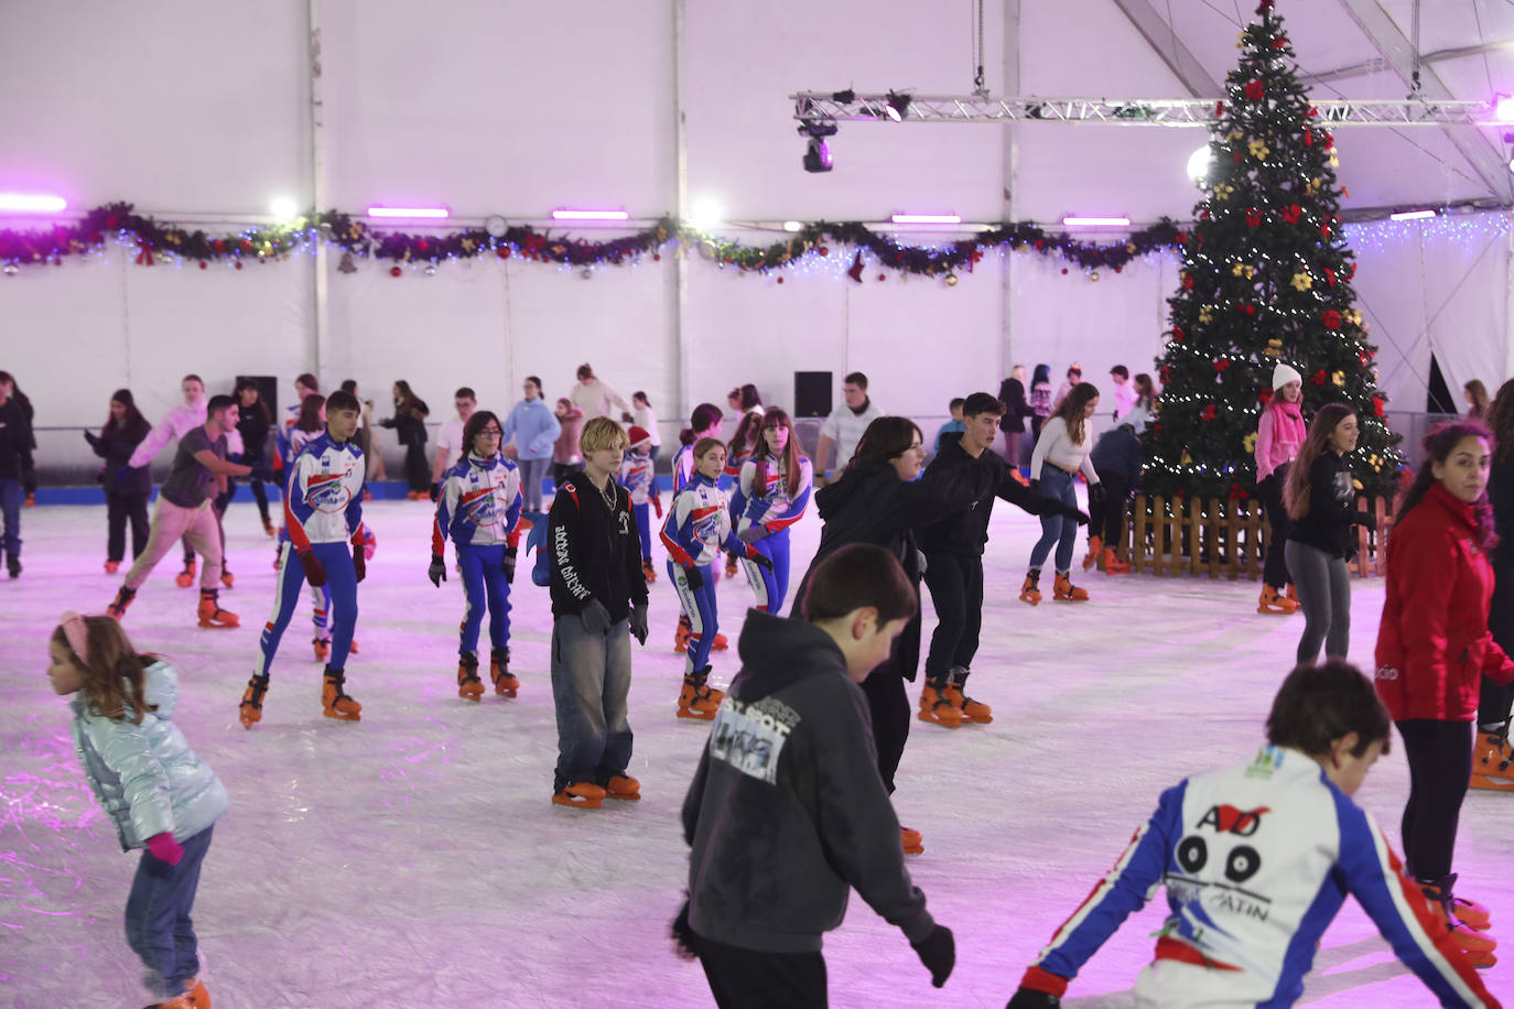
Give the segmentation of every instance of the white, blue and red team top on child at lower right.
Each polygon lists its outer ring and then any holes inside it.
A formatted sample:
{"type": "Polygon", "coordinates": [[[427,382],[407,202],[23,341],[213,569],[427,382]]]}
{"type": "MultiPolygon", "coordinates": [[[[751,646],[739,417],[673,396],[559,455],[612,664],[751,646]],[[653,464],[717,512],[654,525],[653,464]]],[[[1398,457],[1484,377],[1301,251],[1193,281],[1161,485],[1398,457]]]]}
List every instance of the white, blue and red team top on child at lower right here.
{"type": "Polygon", "coordinates": [[[1022,985],[1060,995],[1158,883],[1172,914],[1136,982],[1139,1006],[1291,1006],[1346,894],[1441,1006],[1497,1004],[1372,817],[1297,750],[1269,746],[1163,793],[1022,985]]]}

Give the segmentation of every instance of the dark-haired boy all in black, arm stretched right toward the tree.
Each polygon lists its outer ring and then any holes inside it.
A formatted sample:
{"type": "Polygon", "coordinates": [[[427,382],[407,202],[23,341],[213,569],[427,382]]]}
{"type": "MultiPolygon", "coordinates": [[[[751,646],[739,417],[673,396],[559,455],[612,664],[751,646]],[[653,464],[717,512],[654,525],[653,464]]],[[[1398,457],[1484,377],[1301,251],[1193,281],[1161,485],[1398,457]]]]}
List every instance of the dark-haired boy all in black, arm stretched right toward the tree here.
{"type": "MultiPolygon", "coordinates": [[[[1010,466],[998,452],[989,451],[999,434],[1004,404],[986,392],[967,396],[961,410],[967,430],[960,437],[942,437],[942,449],[925,467],[925,480],[945,469],[984,466],[992,472],[989,490],[966,511],[957,511],[919,531],[925,552],[925,584],[936,605],[936,632],[925,657],[925,688],[921,691],[921,722],[951,729],[966,722],[993,722],[993,708],[966,694],[972,658],[978,654],[978,631],[983,628],[983,546],[989,542],[989,517],[993,499],[1004,498],[1031,514],[1064,510],[1014,480],[1010,466]]],[[[1073,510],[1081,525],[1089,516],[1073,510]]]]}

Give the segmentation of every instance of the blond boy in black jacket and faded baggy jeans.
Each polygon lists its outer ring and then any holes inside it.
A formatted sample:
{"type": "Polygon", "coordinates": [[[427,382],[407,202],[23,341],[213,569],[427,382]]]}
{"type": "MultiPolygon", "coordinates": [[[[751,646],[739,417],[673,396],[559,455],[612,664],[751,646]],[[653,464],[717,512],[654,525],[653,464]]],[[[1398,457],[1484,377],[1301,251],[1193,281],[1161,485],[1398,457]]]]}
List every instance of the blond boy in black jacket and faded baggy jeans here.
{"type": "Polygon", "coordinates": [[[578,434],[584,469],[563,478],[547,517],[553,595],[553,802],[598,809],[640,799],[625,773],[631,726],[631,635],[646,644],[646,578],[630,492],[615,483],[625,431],[595,418],[578,434]]]}

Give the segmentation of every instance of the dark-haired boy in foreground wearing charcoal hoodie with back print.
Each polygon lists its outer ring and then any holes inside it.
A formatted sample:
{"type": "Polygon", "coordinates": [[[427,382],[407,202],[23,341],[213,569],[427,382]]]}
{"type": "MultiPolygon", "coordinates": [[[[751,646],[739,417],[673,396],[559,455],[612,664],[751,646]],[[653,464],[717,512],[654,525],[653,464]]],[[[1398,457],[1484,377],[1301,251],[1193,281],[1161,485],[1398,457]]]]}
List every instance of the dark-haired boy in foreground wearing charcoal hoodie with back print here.
{"type": "Polygon", "coordinates": [[[751,610],[742,670],[683,803],[689,903],[674,923],[721,1009],[824,1006],[821,936],[852,886],[898,926],[931,982],[955,962],[925,911],[878,776],[857,685],[889,657],[917,599],[881,546],[846,546],[810,572],[804,620],[751,610]]]}

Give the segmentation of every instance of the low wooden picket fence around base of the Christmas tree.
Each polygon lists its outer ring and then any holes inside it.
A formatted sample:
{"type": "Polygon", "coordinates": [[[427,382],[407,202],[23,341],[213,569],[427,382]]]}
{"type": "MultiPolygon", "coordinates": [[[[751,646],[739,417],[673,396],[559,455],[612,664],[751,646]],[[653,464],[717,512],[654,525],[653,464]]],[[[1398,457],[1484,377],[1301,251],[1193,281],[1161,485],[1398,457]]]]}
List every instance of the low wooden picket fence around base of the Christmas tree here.
{"type": "MultiPolygon", "coordinates": [[[[1372,514],[1378,528],[1372,532],[1366,526],[1354,526],[1357,558],[1347,563],[1347,569],[1358,578],[1385,575],[1393,502],[1390,498],[1358,495],[1357,508],[1372,514]]],[[[1120,543],[1107,546],[1114,546],[1116,557],[1136,573],[1178,576],[1185,572],[1190,578],[1208,575],[1258,581],[1270,542],[1272,525],[1260,501],[1136,495],[1128,505],[1120,543]]],[[[1102,557],[1099,569],[1104,569],[1102,557]]]]}

